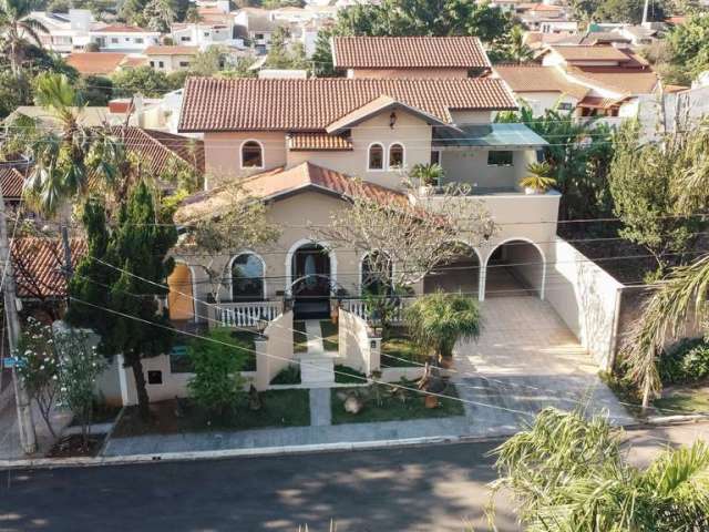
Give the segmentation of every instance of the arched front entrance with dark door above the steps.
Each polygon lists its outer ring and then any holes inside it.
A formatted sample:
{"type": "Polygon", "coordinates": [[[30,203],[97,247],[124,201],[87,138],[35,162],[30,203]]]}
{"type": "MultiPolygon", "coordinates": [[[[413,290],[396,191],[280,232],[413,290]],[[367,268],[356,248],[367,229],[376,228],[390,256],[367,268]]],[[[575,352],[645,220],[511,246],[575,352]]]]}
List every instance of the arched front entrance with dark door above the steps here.
{"type": "Polygon", "coordinates": [[[296,319],[321,319],[330,314],[335,258],[322,245],[307,242],[289,253],[288,293],[296,319]]]}

